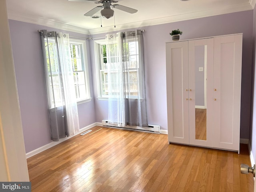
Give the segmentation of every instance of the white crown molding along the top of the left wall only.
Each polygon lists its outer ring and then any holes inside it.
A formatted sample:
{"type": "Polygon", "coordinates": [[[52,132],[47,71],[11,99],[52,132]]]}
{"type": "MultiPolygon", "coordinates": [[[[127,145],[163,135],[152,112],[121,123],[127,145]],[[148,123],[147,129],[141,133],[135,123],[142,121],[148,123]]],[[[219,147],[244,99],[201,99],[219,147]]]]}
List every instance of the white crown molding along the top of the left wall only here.
{"type": "Polygon", "coordinates": [[[60,23],[60,22],[56,22],[56,21],[52,21],[52,20],[48,20],[48,19],[44,19],[44,18],[28,18],[27,16],[24,16],[24,15],[14,14],[14,13],[9,13],[8,12],[8,19],[89,35],[89,30],[88,29],[84,29],[84,28],[80,28],[80,27],[76,27],[76,26],[72,26],[72,25],[68,25],[68,24],[64,24],[64,23],[60,23]]]}

